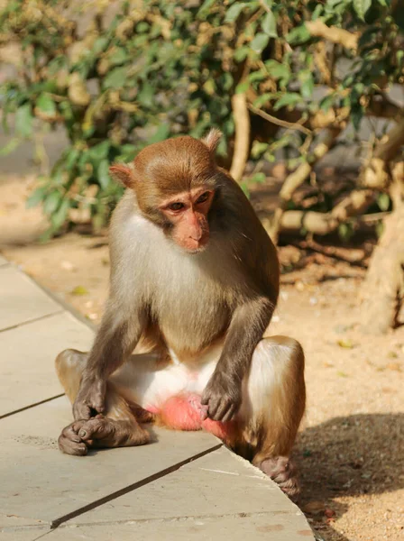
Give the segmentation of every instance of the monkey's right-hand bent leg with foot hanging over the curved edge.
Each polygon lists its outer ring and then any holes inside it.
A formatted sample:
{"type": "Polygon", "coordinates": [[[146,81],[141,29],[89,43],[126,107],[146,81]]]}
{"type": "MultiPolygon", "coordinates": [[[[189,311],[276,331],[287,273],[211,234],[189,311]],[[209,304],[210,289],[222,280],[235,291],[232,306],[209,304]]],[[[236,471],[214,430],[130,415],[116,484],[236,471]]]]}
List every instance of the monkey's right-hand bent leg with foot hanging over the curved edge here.
{"type": "Polygon", "coordinates": [[[298,480],[289,459],[306,402],[304,353],[296,340],[264,338],[253,353],[238,418],[242,428],[234,450],[252,460],[290,498],[298,480]]]}

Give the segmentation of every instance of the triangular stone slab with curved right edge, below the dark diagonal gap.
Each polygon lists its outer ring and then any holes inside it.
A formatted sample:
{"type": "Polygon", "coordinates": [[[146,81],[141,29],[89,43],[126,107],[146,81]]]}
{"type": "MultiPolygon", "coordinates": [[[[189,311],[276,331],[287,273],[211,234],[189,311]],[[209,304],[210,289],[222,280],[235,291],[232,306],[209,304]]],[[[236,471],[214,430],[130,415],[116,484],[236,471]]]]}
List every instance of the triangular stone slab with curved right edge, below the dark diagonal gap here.
{"type": "Polygon", "coordinates": [[[301,514],[266,475],[223,447],[69,524],[267,512],[301,514]]]}

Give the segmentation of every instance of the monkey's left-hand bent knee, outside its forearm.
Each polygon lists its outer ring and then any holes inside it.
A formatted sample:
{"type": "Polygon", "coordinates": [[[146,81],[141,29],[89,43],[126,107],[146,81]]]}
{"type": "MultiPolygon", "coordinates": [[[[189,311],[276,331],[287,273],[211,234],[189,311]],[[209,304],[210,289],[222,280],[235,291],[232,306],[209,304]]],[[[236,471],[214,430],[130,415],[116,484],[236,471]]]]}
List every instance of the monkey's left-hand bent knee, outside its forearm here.
{"type": "Polygon", "coordinates": [[[84,371],[88,353],[67,349],[59,353],[55,359],[56,373],[69,400],[74,401],[78,394],[81,375],[84,371]]]}

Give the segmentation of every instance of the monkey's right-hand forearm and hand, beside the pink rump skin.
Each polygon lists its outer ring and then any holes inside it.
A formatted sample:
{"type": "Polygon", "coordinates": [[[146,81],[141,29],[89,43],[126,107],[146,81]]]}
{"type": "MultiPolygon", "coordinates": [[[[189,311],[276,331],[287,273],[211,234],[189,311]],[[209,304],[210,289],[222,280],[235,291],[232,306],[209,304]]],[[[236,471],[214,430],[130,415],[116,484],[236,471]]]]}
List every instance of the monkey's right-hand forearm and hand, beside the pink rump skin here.
{"type": "Polygon", "coordinates": [[[207,415],[216,421],[229,421],[240,408],[243,377],[250,369],[253,352],[271,321],[275,304],[256,297],[234,311],[225,338],[223,353],[202,395],[207,415]]]}

